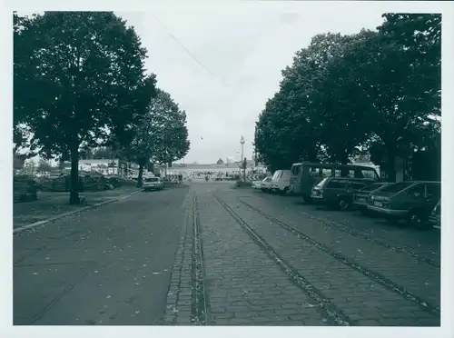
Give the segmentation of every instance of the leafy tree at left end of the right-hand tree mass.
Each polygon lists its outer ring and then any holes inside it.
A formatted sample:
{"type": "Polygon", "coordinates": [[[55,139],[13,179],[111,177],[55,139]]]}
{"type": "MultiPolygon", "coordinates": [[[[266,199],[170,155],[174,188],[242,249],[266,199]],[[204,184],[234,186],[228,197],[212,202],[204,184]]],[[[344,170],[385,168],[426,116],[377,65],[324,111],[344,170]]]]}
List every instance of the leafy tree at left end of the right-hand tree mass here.
{"type": "Polygon", "coordinates": [[[271,171],[301,160],[321,160],[321,119],[314,94],[323,91],[326,64],[350,39],[339,34],[316,35],[282,71],[280,91],[267,102],[255,128],[257,151],[271,171]]]}

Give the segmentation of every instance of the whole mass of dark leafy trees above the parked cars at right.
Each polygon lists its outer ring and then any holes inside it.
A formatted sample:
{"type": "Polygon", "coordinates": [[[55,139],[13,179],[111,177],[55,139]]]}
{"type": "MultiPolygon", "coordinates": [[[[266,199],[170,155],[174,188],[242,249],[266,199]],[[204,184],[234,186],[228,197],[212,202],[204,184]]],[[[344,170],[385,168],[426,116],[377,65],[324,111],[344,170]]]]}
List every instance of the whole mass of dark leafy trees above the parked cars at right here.
{"type": "Polygon", "coordinates": [[[441,15],[382,16],[376,31],[313,36],[282,70],[255,126],[271,171],[369,154],[394,182],[397,157],[440,153],[441,15]]]}

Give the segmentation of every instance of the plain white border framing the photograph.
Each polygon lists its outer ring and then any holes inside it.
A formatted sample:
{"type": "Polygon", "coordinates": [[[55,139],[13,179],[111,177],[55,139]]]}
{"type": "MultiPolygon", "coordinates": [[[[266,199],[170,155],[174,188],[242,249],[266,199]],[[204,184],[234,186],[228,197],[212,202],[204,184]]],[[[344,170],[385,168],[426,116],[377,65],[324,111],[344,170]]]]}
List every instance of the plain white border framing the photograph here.
{"type": "MultiPolygon", "coordinates": [[[[3,212],[2,226],[0,227],[0,248],[2,255],[0,257],[0,279],[2,283],[0,295],[0,334],[4,337],[29,337],[36,338],[60,338],[60,337],[81,337],[81,336],[131,336],[134,337],[162,337],[162,336],[188,336],[198,334],[200,337],[276,337],[282,335],[288,336],[322,336],[328,337],[383,337],[383,336],[403,336],[408,337],[452,337],[454,336],[453,323],[453,292],[452,271],[454,257],[449,244],[454,243],[454,230],[450,227],[454,224],[454,209],[449,205],[453,204],[453,197],[449,193],[454,188],[454,176],[451,169],[453,167],[454,151],[449,151],[449,144],[454,144],[454,3],[453,2],[383,2],[383,1],[139,1],[139,0],[79,0],[79,1],[25,1],[25,0],[8,0],[2,2],[2,45],[4,48],[1,52],[1,65],[3,66],[4,79],[2,85],[3,111],[2,128],[4,132],[0,133],[2,138],[1,147],[4,148],[5,156],[4,165],[0,166],[1,177],[9,177],[5,180],[4,187],[0,193],[3,212]],[[442,14],[442,230],[441,237],[441,280],[442,280],[442,301],[441,301],[441,328],[424,328],[424,327],[240,327],[240,326],[223,326],[223,327],[165,327],[165,326],[13,326],[13,179],[12,170],[13,158],[11,154],[12,128],[13,123],[13,10],[26,12],[42,12],[45,10],[67,11],[67,10],[114,10],[122,12],[150,11],[160,9],[175,9],[196,11],[197,8],[210,7],[212,10],[223,10],[234,6],[274,6],[276,8],[285,7],[287,11],[296,10],[304,7],[305,11],[321,11],[324,7],[330,6],[338,8],[337,13],[341,15],[342,11],[351,11],[352,6],[355,8],[374,9],[383,8],[385,12],[400,13],[441,13],[442,14]],[[452,134],[451,134],[452,133],[452,134]],[[7,183],[6,183],[7,182],[7,183]],[[451,202],[449,202],[451,201],[451,202]],[[451,285],[451,287],[449,287],[451,285]],[[449,320],[449,318],[451,318],[449,320]]],[[[323,32],[321,32],[323,33],[323,32]]],[[[301,46],[302,47],[302,46],[301,46]]]]}

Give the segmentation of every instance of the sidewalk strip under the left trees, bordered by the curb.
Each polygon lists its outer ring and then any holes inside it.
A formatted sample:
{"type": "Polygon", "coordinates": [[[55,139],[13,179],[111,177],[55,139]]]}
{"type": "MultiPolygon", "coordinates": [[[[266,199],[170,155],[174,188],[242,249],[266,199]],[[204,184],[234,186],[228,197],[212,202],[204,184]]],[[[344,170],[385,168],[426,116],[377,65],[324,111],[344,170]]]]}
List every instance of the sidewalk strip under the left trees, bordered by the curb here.
{"type": "Polygon", "coordinates": [[[17,228],[44,221],[58,214],[68,213],[86,206],[109,201],[125,194],[131,194],[134,191],[137,191],[137,188],[124,186],[113,190],[80,193],[80,196],[86,198],[86,203],[82,205],[70,205],[69,193],[38,192],[37,201],[13,205],[13,226],[17,228]]]}

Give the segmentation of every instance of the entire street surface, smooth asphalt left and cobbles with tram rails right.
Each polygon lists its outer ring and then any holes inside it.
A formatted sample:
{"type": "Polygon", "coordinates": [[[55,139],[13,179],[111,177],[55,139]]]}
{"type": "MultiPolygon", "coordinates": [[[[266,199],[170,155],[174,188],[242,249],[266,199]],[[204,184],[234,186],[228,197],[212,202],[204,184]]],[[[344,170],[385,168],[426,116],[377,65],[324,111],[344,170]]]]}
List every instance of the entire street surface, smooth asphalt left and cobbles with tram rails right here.
{"type": "Polygon", "coordinates": [[[439,325],[439,238],[192,183],[15,236],[15,324],[439,325]]]}

